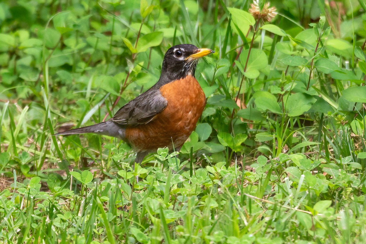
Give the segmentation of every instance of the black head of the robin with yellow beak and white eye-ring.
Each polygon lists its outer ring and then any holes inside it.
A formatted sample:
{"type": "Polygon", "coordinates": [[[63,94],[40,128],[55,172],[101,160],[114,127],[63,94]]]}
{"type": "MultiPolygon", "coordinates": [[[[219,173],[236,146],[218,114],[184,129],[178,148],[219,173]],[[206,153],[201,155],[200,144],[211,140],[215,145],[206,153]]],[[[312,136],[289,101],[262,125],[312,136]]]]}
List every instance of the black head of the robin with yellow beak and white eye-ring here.
{"type": "Polygon", "coordinates": [[[157,85],[164,85],[186,76],[194,76],[198,59],[213,52],[206,48],[199,49],[191,44],[172,46],[165,53],[157,85]]]}

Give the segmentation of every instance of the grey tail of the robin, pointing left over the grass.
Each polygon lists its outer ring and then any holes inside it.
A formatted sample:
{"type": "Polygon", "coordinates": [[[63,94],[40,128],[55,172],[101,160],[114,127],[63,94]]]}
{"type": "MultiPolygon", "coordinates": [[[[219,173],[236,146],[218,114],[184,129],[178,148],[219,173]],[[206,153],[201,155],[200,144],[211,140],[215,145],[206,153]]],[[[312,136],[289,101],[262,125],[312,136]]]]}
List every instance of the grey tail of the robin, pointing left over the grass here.
{"type": "Polygon", "coordinates": [[[113,121],[105,121],[86,127],[70,129],[69,131],[59,132],[55,135],[75,135],[85,133],[113,136],[122,140],[125,139],[125,129],[113,121]]]}

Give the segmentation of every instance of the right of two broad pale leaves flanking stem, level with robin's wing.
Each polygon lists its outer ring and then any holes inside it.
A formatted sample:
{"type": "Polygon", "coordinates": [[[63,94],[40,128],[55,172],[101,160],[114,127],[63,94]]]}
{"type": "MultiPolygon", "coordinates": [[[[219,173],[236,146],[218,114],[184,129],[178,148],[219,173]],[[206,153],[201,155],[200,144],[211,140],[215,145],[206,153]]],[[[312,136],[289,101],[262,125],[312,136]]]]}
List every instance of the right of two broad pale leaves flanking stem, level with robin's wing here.
{"type": "Polygon", "coordinates": [[[315,98],[305,93],[292,94],[284,101],[286,113],[290,117],[302,115],[311,108],[315,101],[315,98]]]}

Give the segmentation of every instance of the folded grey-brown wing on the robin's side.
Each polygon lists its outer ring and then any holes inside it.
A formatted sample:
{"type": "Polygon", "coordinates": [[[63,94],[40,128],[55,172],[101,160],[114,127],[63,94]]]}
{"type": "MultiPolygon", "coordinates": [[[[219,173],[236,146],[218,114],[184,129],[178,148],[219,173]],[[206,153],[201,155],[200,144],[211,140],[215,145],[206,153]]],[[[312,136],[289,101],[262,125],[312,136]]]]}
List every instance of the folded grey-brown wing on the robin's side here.
{"type": "Polygon", "coordinates": [[[109,120],[121,125],[146,124],[163,111],[167,104],[168,101],[159,89],[150,89],[120,108],[109,120]]]}

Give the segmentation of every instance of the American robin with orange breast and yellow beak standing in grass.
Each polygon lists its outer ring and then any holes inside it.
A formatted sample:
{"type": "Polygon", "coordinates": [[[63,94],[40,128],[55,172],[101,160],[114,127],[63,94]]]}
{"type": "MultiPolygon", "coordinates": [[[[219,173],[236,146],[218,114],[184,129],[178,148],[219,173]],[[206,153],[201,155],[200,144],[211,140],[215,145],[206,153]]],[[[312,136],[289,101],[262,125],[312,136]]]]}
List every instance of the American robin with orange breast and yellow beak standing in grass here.
{"type": "Polygon", "coordinates": [[[200,57],[213,50],[191,44],[165,53],[158,82],[120,108],[108,121],[56,135],[94,133],[122,139],[137,152],[136,162],[158,148],[179,151],[196,127],[206,97],[194,77],[200,57]]]}

